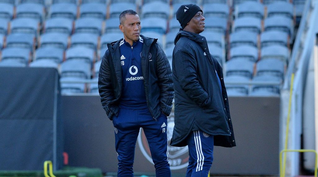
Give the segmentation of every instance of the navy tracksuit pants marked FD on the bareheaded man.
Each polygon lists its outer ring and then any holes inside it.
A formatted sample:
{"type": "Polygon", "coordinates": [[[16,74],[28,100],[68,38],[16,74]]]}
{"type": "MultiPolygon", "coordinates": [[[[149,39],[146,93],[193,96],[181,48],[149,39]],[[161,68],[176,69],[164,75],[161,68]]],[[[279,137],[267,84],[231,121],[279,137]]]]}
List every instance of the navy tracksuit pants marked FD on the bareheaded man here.
{"type": "Polygon", "coordinates": [[[134,176],[133,163],[136,140],[140,128],[148,140],[152,161],[155,164],[156,176],[171,176],[168,163],[167,116],[163,113],[157,121],[152,118],[149,109],[119,109],[114,116],[115,148],[118,154],[118,176],[134,176]]]}

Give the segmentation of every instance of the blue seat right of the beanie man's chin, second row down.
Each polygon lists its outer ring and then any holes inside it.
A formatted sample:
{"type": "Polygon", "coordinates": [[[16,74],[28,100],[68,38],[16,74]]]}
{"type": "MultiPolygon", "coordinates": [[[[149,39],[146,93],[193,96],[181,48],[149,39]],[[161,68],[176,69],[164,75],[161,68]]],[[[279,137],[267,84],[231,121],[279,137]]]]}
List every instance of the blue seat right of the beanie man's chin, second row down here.
{"type": "Polygon", "coordinates": [[[205,31],[225,33],[227,28],[227,18],[208,17],[205,18],[205,31]]]}

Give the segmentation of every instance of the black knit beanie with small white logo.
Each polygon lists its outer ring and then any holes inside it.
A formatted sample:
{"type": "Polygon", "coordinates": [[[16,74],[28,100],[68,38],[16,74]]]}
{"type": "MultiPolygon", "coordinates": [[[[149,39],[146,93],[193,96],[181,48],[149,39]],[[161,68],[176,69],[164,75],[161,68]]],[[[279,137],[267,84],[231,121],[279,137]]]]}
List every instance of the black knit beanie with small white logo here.
{"type": "Polygon", "coordinates": [[[182,29],[187,26],[191,18],[193,18],[198,11],[203,11],[196,4],[181,5],[176,12],[177,20],[179,21],[182,29]]]}

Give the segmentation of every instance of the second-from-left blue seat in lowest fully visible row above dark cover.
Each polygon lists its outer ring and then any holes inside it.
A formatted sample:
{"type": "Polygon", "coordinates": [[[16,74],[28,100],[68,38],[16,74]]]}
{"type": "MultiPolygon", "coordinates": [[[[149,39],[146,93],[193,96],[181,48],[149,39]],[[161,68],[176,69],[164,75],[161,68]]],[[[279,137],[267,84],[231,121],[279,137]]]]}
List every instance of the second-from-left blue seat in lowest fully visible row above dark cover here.
{"type": "Polygon", "coordinates": [[[34,60],[52,60],[61,63],[64,58],[64,50],[56,47],[41,47],[35,52],[34,60]]]}

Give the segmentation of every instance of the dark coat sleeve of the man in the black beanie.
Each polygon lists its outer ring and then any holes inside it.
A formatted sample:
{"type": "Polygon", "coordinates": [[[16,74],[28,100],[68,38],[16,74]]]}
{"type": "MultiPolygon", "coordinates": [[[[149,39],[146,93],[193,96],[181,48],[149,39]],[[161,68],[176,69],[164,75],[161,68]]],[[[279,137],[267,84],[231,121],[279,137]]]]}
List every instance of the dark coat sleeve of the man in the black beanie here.
{"type": "Polygon", "coordinates": [[[173,54],[175,71],[180,86],[185,94],[197,105],[205,108],[211,104],[211,98],[204,91],[197,78],[196,57],[190,51],[177,50],[173,54]]]}

